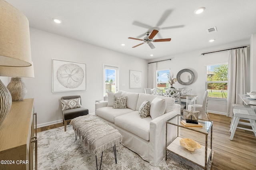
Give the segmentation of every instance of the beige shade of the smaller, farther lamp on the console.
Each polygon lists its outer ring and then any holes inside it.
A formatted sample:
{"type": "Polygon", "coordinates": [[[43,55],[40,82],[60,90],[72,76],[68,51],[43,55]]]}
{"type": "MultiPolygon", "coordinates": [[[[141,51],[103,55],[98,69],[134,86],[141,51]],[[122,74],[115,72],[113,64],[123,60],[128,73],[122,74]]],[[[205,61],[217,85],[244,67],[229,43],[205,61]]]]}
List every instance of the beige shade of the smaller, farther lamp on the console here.
{"type": "Polygon", "coordinates": [[[0,66],[0,76],[6,77],[34,77],[34,66],[29,67],[5,67],[0,66]]]}

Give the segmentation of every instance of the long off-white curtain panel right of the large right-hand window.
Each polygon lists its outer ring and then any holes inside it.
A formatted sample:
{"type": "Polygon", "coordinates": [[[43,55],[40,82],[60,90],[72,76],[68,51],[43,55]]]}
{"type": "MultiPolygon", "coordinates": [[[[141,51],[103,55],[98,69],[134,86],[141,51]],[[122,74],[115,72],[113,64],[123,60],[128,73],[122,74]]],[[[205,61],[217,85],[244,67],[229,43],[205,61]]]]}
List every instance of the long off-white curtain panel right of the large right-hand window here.
{"type": "Polygon", "coordinates": [[[247,48],[228,51],[228,117],[232,117],[233,103],[243,104],[238,94],[246,92],[246,59],[247,48]]]}

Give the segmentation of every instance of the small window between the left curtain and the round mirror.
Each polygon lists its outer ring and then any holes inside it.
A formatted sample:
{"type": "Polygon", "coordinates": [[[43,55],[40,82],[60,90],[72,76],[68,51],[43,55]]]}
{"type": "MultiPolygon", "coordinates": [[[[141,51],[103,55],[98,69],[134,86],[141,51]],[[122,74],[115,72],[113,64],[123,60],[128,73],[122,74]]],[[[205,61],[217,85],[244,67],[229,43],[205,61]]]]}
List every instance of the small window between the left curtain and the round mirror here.
{"type": "Polygon", "coordinates": [[[162,89],[165,93],[164,88],[169,88],[168,76],[170,75],[170,69],[168,70],[157,70],[157,88],[162,89]]]}

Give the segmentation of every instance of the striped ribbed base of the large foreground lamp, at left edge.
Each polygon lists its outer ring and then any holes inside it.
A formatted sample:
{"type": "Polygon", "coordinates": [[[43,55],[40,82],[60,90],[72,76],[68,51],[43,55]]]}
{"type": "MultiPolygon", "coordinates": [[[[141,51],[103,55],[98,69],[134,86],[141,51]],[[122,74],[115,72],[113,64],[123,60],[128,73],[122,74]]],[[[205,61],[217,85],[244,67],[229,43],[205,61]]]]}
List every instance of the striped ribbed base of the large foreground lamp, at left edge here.
{"type": "Polygon", "coordinates": [[[3,123],[12,106],[12,96],[0,80],[0,125],[3,123]]]}

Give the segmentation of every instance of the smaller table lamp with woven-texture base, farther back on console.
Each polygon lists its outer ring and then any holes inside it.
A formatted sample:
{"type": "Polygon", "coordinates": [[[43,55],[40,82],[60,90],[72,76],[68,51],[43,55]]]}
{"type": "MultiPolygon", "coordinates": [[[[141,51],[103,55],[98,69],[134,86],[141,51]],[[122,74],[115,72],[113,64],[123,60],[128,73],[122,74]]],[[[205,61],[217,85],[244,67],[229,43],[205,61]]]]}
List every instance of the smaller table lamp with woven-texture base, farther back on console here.
{"type": "Polygon", "coordinates": [[[0,76],[12,77],[6,86],[12,96],[12,101],[23,101],[27,87],[22,77],[34,77],[33,62],[29,67],[4,67],[0,66],[0,76]]]}

